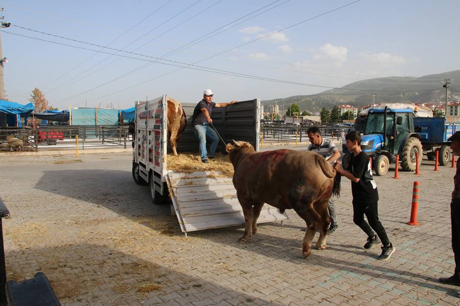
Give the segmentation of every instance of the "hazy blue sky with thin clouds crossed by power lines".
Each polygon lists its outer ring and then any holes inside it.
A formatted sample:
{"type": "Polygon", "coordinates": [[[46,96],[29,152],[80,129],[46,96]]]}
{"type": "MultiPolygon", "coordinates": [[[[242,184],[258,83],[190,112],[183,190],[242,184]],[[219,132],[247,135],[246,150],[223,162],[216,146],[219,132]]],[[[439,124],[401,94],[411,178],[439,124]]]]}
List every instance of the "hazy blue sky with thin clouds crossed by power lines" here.
{"type": "Polygon", "coordinates": [[[2,29],[8,33],[0,33],[3,56],[8,58],[4,68],[6,93],[9,99],[25,104],[34,87],[38,87],[49,104],[59,109],[69,105],[83,107],[85,103],[88,107],[111,104],[129,108],[135,100],[162,94],[196,103],[206,88],[213,90],[214,100],[219,103],[326,90],[305,84],[341,87],[369,78],[420,77],[460,69],[457,0],[361,0],[267,36],[352,2],[3,1],[5,21],[12,24],[2,29]],[[255,16],[259,13],[262,14],[255,16]],[[243,16],[246,17],[228,25],[225,31],[167,55],[243,16]],[[109,57],[95,50],[117,51],[13,25],[140,55],[119,52],[137,59],[109,57]],[[220,55],[212,57],[216,54],[220,55]],[[302,84],[187,68],[174,71],[180,67],[140,60],[153,61],[152,57],[302,84]]]}

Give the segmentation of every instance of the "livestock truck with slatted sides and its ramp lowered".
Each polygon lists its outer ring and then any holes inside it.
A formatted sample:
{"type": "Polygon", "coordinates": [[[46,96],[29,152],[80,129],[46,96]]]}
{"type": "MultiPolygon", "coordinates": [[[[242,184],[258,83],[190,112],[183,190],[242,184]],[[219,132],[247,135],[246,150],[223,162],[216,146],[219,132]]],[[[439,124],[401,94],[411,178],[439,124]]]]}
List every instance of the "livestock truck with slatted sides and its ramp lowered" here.
{"type": "MultiPolygon", "coordinates": [[[[196,103],[182,103],[187,126],[177,144],[177,151],[198,150],[193,133],[192,114],[196,103]]],[[[260,99],[239,101],[226,108],[215,108],[213,125],[225,143],[232,139],[251,143],[259,150],[260,99]]],[[[236,197],[231,177],[198,171],[174,172],[168,169],[167,95],[137,102],[135,105],[132,175],[139,185],[148,185],[155,204],[170,203],[181,231],[204,230],[244,224],[244,215],[236,197]]],[[[218,151],[225,145],[219,141],[218,151]]],[[[264,206],[259,222],[287,219],[285,213],[264,206]]]]}

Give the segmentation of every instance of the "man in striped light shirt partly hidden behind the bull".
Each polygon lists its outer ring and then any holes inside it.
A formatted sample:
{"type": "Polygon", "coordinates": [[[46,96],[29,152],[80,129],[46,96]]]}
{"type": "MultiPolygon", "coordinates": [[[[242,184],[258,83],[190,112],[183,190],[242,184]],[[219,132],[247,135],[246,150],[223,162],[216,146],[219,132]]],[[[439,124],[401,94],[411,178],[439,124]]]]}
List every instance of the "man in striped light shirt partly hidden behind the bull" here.
{"type": "MultiPolygon", "coordinates": [[[[330,139],[323,139],[321,132],[316,126],[310,127],[307,130],[308,139],[311,144],[308,146],[308,150],[316,152],[323,156],[329,163],[334,164],[336,160],[340,158],[340,152],[335,146],[334,142],[330,139]]],[[[329,226],[328,234],[332,234],[337,230],[337,212],[335,209],[335,203],[332,198],[328,202],[329,217],[331,218],[331,226],[329,226]]]]}

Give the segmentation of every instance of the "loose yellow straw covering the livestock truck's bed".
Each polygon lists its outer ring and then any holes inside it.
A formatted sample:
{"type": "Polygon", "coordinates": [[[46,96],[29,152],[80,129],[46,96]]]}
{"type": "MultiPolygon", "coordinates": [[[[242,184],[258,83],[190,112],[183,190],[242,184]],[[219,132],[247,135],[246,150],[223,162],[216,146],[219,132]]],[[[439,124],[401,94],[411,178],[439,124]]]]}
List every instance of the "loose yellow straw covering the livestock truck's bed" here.
{"type": "Polygon", "coordinates": [[[179,156],[168,154],[168,169],[185,173],[220,171],[225,177],[233,177],[233,165],[228,159],[228,155],[221,153],[217,153],[213,159],[210,159],[209,164],[201,162],[198,152],[181,152],[179,156]]]}

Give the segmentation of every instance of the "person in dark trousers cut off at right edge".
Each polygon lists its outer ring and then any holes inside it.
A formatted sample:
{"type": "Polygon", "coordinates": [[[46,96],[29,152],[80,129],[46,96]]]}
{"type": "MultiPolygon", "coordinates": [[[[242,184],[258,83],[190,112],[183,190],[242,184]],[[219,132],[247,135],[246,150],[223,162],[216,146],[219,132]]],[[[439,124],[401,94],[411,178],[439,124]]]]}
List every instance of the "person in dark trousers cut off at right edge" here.
{"type": "MultiPolygon", "coordinates": [[[[447,141],[454,155],[460,155],[460,131],[455,132],[447,141]]],[[[457,170],[454,176],[454,190],[450,202],[450,219],[452,223],[452,250],[455,259],[455,271],[450,277],[440,277],[443,284],[460,286],[460,159],[457,160],[457,170]]],[[[458,292],[457,292],[458,294],[458,292]]]]}

